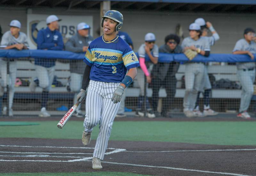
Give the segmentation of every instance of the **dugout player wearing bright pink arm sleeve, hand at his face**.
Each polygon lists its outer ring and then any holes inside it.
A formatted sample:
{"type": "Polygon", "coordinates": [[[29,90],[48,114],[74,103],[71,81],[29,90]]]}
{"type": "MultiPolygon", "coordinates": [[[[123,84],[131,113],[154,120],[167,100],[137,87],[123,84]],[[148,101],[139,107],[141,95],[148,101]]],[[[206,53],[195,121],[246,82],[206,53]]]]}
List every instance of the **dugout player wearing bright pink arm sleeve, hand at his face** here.
{"type": "MultiPolygon", "coordinates": [[[[140,60],[140,68],[138,68],[138,76],[137,81],[140,86],[140,95],[138,98],[138,109],[136,110],[137,115],[144,116],[144,113],[141,111],[142,104],[144,102],[144,81],[145,76],[147,79],[147,83],[151,83],[151,76],[150,72],[153,69],[154,64],[157,64],[158,62],[158,46],[155,44],[156,37],[153,33],[147,33],[145,35],[145,43],[142,44],[138,50],[139,60],[140,60]],[[145,61],[145,56],[148,55],[150,61],[145,61]]],[[[148,86],[147,86],[148,88],[148,86]]],[[[148,97],[146,100],[146,107],[148,114],[147,116],[149,118],[155,118],[156,115],[152,109],[150,109],[148,97]]]]}

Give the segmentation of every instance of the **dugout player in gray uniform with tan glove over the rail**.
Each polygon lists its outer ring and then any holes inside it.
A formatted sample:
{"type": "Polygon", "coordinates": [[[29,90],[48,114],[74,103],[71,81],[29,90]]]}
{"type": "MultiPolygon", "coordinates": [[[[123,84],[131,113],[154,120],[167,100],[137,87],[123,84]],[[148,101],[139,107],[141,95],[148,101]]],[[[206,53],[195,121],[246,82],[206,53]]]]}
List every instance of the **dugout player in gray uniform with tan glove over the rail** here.
{"type": "MultiPolygon", "coordinates": [[[[181,47],[186,51],[192,50],[203,56],[210,55],[210,45],[206,38],[201,37],[201,28],[198,24],[189,25],[189,36],[182,41],[181,47]]],[[[193,58],[190,58],[193,59],[193,58]]],[[[185,95],[183,99],[183,112],[187,117],[198,116],[193,112],[197,92],[204,76],[204,62],[188,61],[185,64],[185,95]]]]}

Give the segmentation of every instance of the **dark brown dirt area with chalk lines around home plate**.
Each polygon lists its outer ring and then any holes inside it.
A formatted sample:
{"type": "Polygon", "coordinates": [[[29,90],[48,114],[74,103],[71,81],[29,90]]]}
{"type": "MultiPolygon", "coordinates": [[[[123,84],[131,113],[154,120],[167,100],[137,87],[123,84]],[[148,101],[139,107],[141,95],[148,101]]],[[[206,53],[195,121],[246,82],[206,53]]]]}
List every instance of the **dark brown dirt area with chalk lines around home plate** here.
{"type": "MultiPolygon", "coordinates": [[[[93,172],[95,140],[0,138],[0,172],[93,172]]],[[[100,171],[157,176],[255,175],[255,146],[109,141],[100,171]]],[[[95,171],[97,172],[97,171],[95,171]]]]}

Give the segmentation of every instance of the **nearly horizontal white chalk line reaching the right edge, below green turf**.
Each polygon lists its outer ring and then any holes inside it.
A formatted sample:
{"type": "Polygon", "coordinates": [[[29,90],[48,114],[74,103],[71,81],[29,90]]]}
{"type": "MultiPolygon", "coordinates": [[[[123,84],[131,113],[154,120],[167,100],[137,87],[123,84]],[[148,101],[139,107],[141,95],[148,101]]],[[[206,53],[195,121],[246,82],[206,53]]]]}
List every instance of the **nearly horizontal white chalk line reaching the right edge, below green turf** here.
{"type": "Polygon", "coordinates": [[[256,151],[256,149],[216,149],[216,150],[170,150],[170,151],[124,151],[132,153],[157,153],[157,152],[190,152],[190,151],[256,151]]]}

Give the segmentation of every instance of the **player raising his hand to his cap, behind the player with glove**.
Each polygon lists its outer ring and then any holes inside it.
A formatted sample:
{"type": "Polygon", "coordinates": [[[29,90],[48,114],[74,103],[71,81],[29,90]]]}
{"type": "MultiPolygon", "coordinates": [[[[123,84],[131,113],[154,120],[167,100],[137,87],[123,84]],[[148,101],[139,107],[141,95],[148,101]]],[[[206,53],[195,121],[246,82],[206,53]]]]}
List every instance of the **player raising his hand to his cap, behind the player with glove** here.
{"type": "MultiPolygon", "coordinates": [[[[213,28],[212,24],[210,22],[206,22],[204,21],[203,18],[197,18],[195,20],[195,23],[200,25],[201,30],[202,30],[202,37],[205,37],[210,46],[213,46],[215,44],[215,41],[220,39],[219,34],[215,31],[215,29],[213,28]],[[210,30],[212,32],[212,36],[211,37],[207,37],[208,35],[208,30],[210,30]]],[[[214,116],[217,115],[218,112],[215,112],[214,110],[212,110],[210,108],[210,93],[211,93],[211,82],[208,76],[208,72],[207,72],[207,65],[205,65],[204,67],[204,78],[200,87],[200,91],[197,94],[197,99],[196,99],[196,106],[194,109],[194,112],[198,115],[201,115],[202,113],[199,110],[199,97],[200,97],[200,93],[204,92],[204,115],[205,116],[214,116]]]]}

